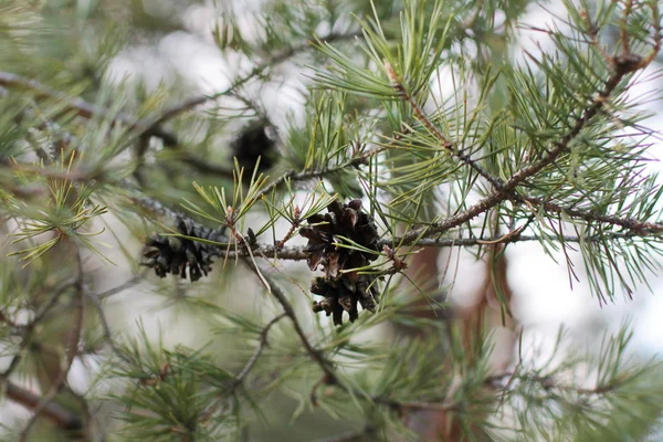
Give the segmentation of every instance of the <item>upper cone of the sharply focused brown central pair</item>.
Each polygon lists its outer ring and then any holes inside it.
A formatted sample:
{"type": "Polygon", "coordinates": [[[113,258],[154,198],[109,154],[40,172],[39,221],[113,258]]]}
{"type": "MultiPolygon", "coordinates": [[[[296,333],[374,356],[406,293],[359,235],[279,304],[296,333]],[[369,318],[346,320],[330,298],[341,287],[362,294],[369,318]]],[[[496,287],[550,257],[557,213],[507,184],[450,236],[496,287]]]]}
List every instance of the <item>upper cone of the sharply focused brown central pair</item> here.
{"type": "Polygon", "coordinates": [[[299,234],[308,240],[308,267],[315,271],[323,266],[328,277],[337,277],[339,271],[367,265],[377,254],[337,248],[334,243],[345,236],[369,250],[378,251],[378,230],[373,219],[361,211],[361,200],[351,200],[347,204],[333,201],[325,214],[315,214],[308,219],[308,225],[299,234]],[[349,265],[352,261],[354,265],[349,265]]]}

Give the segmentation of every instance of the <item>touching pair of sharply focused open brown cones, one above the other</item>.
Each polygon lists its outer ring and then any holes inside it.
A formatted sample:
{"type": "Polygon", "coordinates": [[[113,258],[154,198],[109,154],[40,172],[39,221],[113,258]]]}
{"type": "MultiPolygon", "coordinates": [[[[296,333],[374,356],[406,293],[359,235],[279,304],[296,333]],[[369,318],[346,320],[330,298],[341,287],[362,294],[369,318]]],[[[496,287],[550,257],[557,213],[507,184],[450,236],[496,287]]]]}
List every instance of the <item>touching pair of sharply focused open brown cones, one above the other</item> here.
{"type": "Polygon", "coordinates": [[[343,312],[348,312],[350,322],[359,316],[357,304],[375,312],[378,291],[373,275],[357,272],[340,273],[341,270],[357,269],[368,265],[378,255],[375,253],[339,248],[339,236],[378,251],[378,230],[371,215],[361,211],[361,200],[351,200],[347,204],[334,201],[327,207],[328,213],[316,214],[308,219],[308,227],[299,230],[299,234],[308,239],[308,267],[315,271],[318,266],[325,272],[324,277],[316,277],[311,286],[312,293],[323,296],[314,302],[314,312],[325,312],[334,316],[334,324],[343,324],[343,312]],[[370,287],[370,288],[369,288],[370,287]]]}

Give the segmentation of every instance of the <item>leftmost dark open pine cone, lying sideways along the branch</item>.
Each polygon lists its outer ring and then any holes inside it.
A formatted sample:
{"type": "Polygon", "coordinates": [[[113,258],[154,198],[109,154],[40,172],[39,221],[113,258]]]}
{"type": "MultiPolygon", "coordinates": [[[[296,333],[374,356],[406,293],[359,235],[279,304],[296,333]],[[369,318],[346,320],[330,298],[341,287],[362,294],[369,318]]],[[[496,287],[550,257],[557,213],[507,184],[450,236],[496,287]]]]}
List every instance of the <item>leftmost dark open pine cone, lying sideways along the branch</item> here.
{"type": "MultiPolygon", "coordinates": [[[[177,233],[200,238],[210,241],[224,241],[221,230],[212,230],[203,225],[197,225],[188,218],[178,218],[176,221],[177,233]]],[[[154,234],[146,241],[147,250],[143,254],[146,261],[143,265],[154,269],[157,276],[165,277],[172,273],[181,278],[196,282],[208,274],[211,270],[212,257],[219,256],[219,249],[212,244],[193,241],[181,236],[165,236],[154,234]]]]}

